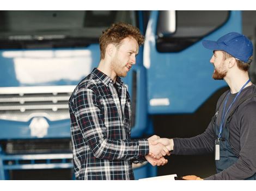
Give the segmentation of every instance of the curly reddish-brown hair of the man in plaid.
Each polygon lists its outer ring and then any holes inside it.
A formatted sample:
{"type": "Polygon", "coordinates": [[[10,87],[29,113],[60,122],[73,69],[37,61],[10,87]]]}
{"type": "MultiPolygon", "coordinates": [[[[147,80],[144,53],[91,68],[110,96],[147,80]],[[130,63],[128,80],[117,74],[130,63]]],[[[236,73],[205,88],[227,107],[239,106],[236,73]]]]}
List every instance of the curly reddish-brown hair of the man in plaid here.
{"type": "Polygon", "coordinates": [[[139,29],[128,23],[114,23],[108,29],[102,31],[102,35],[100,36],[100,59],[105,58],[108,44],[113,43],[116,47],[119,47],[126,37],[133,37],[139,46],[144,43],[144,36],[139,29]]]}

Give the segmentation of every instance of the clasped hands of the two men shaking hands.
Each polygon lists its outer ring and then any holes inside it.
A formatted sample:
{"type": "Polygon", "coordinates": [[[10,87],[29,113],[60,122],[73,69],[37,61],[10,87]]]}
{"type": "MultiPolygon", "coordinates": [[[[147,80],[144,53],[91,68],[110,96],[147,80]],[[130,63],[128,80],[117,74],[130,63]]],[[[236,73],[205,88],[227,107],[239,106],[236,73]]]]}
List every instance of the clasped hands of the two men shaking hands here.
{"type": "Polygon", "coordinates": [[[173,139],[153,135],[148,138],[148,142],[149,154],[145,156],[145,159],[153,166],[166,164],[168,160],[164,156],[169,156],[170,151],[173,150],[173,139]]]}

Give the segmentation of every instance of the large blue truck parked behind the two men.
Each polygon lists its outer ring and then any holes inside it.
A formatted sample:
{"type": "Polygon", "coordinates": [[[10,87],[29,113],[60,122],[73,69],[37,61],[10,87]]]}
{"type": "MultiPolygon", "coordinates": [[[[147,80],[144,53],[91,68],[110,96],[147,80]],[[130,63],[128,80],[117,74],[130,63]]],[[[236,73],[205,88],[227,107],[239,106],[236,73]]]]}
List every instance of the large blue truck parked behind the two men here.
{"type": "MultiPolygon", "coordinates": [[[[241,11],[0,11],[0,180],[74,179],[68,100],[100,61],[102,30],[119,21],[145,35],[124,78],[132,138],[225,86],[211,79],[202,40],[241,33],[241,11]]],[[[136,179],[157,175],[148,163],[133,169],[136,179]]]]}

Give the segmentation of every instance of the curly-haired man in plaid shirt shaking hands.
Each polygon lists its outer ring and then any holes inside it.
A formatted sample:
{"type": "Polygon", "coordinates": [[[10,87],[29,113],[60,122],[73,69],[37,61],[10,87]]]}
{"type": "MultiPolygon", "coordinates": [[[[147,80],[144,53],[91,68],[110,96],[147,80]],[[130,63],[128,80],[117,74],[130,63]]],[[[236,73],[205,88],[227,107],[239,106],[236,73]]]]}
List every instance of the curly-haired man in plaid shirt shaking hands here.
{"type": "Polygon", "coordinates": [[[78,180],[133,180],[132,163],[163,165],[168,149],[159,138],[131,139],[131,101],[120,77],[136,63],[144,37],[115,23],[100,36],[101,60],[69,100],[75,176],[78,180]],[[150,157],[152,153],[156,157],[150,157]]]}

